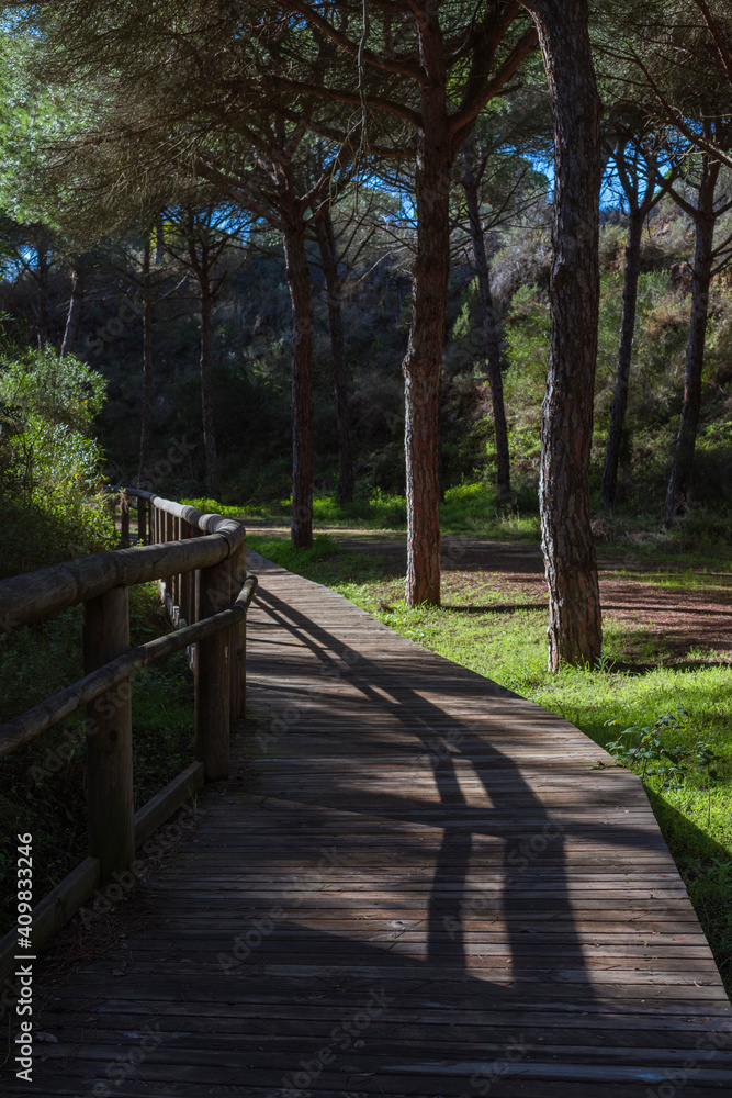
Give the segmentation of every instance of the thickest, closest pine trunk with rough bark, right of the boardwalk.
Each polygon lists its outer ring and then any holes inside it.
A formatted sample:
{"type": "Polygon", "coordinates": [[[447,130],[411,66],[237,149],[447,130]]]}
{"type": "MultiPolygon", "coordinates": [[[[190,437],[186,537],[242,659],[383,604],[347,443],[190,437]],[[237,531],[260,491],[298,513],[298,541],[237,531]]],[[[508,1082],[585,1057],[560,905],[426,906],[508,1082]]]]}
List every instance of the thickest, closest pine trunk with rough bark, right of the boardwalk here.
{"type": "Polygon", "coordinates": [[[549,665],[594,663],[603,629],[589,525],[589,455],[599,305],[600,100],[586,0],[527,0],[554,117],[551,338],[541,424],[540,511],[549,586],[549,665]]]}

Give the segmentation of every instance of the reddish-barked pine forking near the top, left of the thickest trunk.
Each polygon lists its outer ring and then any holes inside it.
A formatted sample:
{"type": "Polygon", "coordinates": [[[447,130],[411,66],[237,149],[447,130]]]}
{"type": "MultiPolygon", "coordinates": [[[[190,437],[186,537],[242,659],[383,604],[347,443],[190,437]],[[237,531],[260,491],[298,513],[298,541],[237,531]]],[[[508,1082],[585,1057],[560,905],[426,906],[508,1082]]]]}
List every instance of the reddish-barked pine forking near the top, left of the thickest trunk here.
{"type": "Polygon", "coordinates": [[[533,49],[531,26],[494,70],[496,52],[518,0],[487,7],[482,24],[446,41],[440,5],[414,3],[419,36],[420,109],[416,123],[417,256],[412,274],[412,325],[402,363],[405,391],[407,605],[440,602],[439,396],[450,265],[452,166],[485,104],[533,49]],[[492,75],[493,72],[493,75],[492,75]],[[464,78],[460,107],[453,111],[464,78]]]}

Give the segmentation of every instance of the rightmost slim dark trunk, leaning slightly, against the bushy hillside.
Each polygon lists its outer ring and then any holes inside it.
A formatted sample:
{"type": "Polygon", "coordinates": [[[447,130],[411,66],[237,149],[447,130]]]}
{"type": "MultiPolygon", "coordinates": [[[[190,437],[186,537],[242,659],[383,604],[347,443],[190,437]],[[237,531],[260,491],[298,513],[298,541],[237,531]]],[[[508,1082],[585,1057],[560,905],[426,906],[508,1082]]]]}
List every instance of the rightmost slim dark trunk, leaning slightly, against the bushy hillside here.
{"type": "Polygon", "coordinates": [[[697,427],[701,411],[701,372],[705,362],[707,317],[709,314],[709,285],[713,264],[714,246],[714,188],[720,165],[703,157],[699,204],[696,221],[696,246],[694,250],[694,276],[691,282],[691,316],[686,346],[684,367],[684,403],[676,436],[674,464],[666,492],[664,520],[671,523],[686,509],[686,493],[691,477],[697,427]]]}

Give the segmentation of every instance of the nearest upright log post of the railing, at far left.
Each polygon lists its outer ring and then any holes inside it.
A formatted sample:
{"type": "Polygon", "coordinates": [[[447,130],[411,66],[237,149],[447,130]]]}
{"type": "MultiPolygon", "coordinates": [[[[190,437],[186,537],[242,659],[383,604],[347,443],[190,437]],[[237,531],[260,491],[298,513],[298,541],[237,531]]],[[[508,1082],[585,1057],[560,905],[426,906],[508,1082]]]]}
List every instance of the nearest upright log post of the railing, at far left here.
{"type": "MultiPolygon", "coordinates": [[[[83,604],[83,669],[89,674],[129,648],[126,587],[83,604]]],[[[102,878],[124,872],[135,856],[129,680],[87,706],[89,853],[102,878]]]]}

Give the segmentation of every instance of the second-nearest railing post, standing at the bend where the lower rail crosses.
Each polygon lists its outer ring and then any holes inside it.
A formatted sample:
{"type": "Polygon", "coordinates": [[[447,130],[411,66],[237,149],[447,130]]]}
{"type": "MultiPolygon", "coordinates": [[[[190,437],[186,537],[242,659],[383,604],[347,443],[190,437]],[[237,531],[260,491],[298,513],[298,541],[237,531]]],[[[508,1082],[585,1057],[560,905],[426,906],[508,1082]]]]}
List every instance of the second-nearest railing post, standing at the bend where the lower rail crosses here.
{"type": "MultiPolygon", "coordinates": [[[[228,558],[213,568],[202,568],[196,587],[199,621],[229,605],[228,558]]],[[[196,645],[195,758],[204,764],[206,782],[228,777],[230,631],[219,629],[196,645]]]]}

